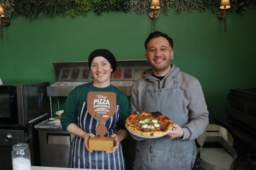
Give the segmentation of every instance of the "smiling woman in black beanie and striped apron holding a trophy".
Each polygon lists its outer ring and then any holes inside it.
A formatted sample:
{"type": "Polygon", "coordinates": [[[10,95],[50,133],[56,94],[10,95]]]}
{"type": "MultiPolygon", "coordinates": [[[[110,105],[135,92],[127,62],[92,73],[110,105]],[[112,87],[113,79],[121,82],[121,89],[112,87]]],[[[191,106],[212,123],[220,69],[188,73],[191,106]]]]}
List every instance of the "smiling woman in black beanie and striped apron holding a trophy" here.
{"type": "Polygon", "coordinates": [[[125,169],[121,140],[128,135],[125,120],[129,116],[130,103],[127,96],[110,84],[110,76],[116,70],[116,59],[109,50],[94,50],[88,58],[88,66],[94,77],[92,83],[77,86],[68,94],[61,124],[64,130],[75,135],[70,147],[69,167],[87,169],[125,169]],[[102,91],[116,93],[116,113],[107,120],[105,136],[114,137],[113,151],[92,151],[88,139],[98,135],[99,125],[87,111],[87,93],[102,91]]]}

